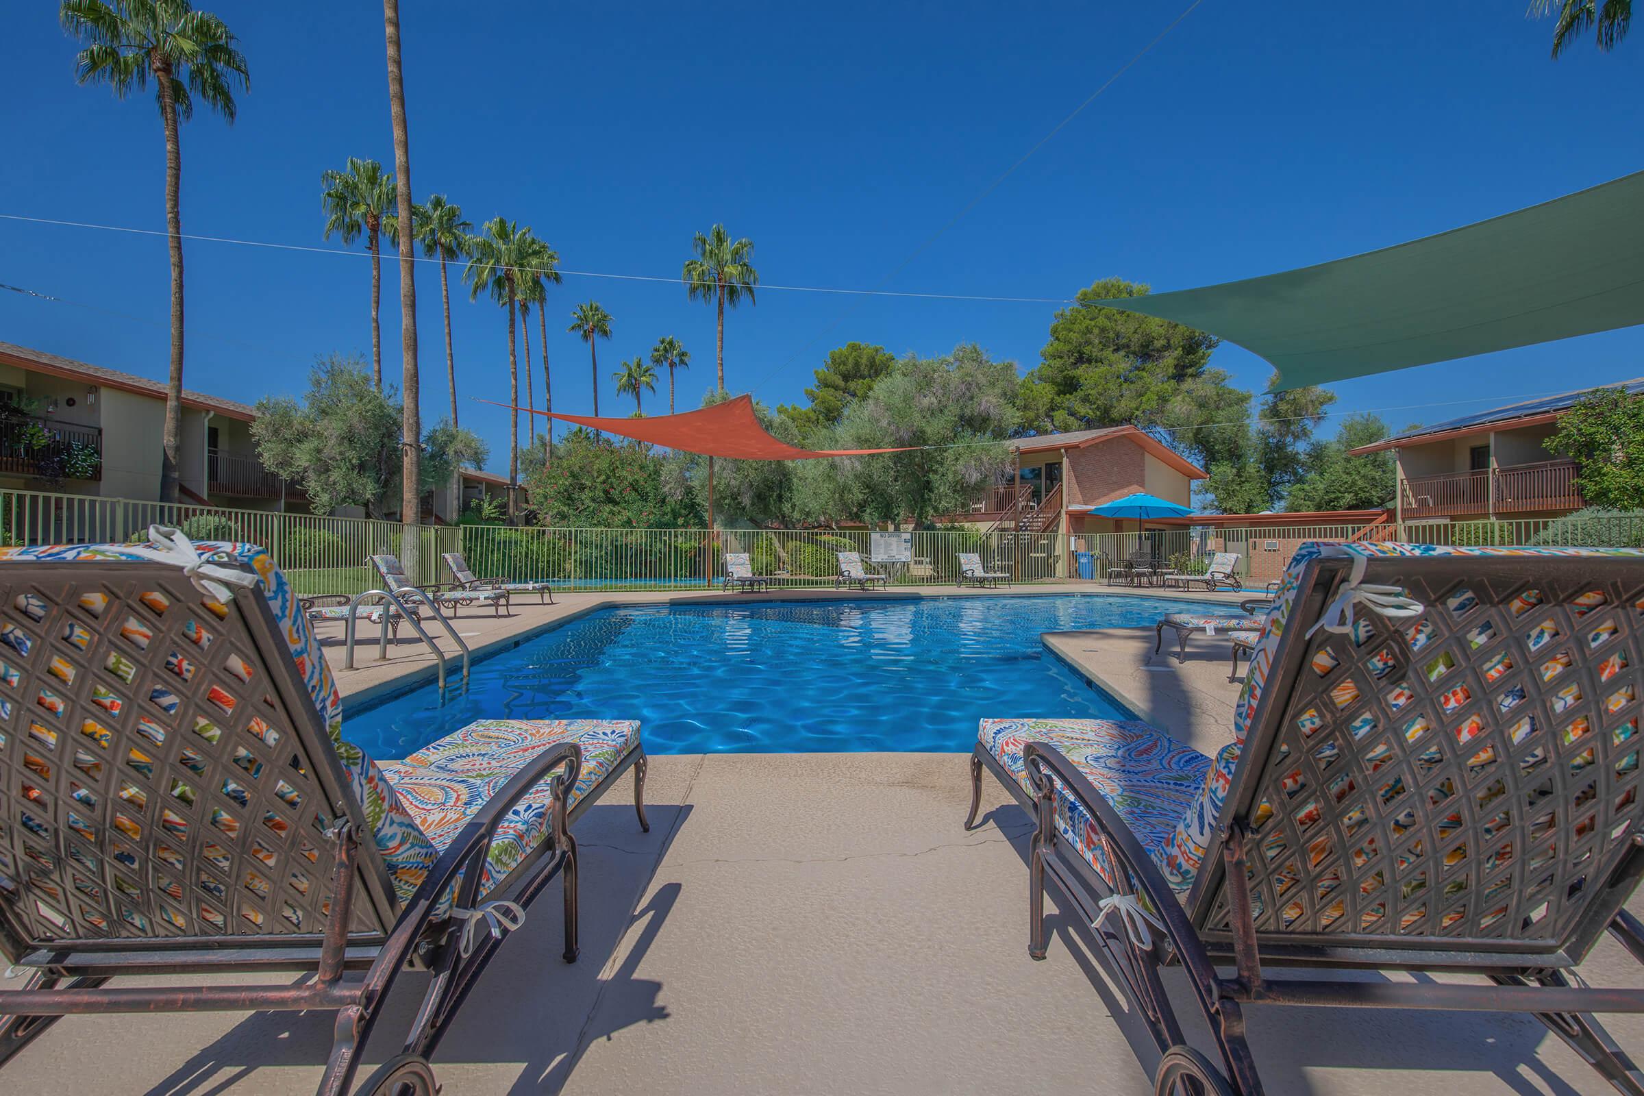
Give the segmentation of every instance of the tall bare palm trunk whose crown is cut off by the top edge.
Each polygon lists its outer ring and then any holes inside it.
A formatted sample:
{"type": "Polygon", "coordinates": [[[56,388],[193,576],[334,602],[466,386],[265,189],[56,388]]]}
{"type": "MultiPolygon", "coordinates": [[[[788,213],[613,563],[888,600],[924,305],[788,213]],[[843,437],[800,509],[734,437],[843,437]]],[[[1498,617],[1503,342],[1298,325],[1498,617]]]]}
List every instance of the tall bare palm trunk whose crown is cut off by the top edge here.
{"type": "MultiPolygon", "coordinates": [[[[399,205],[399,388],[401,465],[399,521],[406,526],[401,555],[416,573],[418,537],[423,521],[423,388],[416,361],[416,255],[411,220],[411,131],[406,127],[406,89],[399,71],[399,0],[383,0],[383,38],[388,44],[388,118],[395,130],[395,176],[399,205]]],[[[375,307],[372,322],[376,322],[375,307]]]]}

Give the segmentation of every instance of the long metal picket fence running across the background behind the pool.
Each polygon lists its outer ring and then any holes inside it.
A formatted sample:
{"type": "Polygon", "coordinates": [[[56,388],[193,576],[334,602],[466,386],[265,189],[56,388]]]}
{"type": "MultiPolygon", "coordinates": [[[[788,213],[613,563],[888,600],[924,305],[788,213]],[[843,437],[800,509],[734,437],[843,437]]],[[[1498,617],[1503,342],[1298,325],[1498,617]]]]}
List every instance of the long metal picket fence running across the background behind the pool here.
{"type": "Polygon", "coordinates": [[[746,552],[753,573],[784,588],[830,588],[838,552],[860,552],[893,587],[952,585],[958,554],[975,552],[1013,583],[1106,580],[1134,554],[1154,565],[1202,573],[1215,552],[1238,554],[1253,590],[1284,573],[1305,541],[1415,544],[1644,546],[1644,513],[1527,521],[1411,521],[1397,526],[1318,524],[1175,527],[1144,532],[1055,534],[863,529],[541,529],[401,526],[367,518],[319,518],[265,509],[143,503],[94,495],[0,490],[0,542],[127,542],[151,524],[179,526],[197,541],[266,547],[298,593],[358,593],[376,585],[367,557],[395,552],[418,583],[450,582],[441,555],[464,552],[480,577],[554,582],[567,590],[689,590],[718,583],[725,552],[746,552]]]}

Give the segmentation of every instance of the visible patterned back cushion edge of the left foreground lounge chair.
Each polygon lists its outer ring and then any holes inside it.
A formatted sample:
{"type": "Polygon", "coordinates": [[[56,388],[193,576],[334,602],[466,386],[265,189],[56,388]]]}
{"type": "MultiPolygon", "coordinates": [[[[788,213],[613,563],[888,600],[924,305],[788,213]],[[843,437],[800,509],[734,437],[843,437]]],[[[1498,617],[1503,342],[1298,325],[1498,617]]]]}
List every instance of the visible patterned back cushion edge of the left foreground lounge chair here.
{"type": "MultiPolygon", "coordinates": [[[[409,899],[427,876],[439,851],[423,835],[409,812],[395,795],[393,785],[381,769],[363,749],[342,738],[342,695],[337,682],[321,654],[319,639],[302,613],[291,583],[275,567],[273,557],[255,544],[235,542],[199,542],[194,546],[201,555],[225,552],[237,562],[248,565],[261,577],[261,593],[275,615],[279,634],[286,641],[286,649],[296,662],[302,684],[307,685],[314,710],[321,716],[330,744],[342,761],[344,774],[349,779],[349,790],[363,805],[365,818],[376,840],[383,866],[393,879],[395,894],[399,900],[409,899]]],[[[44,560],[44,562],[146,562],[140,555],[125,550],[122,544],[66,544],[41,547],[0,547],[0,562],[5,560],[44,560]]]]}

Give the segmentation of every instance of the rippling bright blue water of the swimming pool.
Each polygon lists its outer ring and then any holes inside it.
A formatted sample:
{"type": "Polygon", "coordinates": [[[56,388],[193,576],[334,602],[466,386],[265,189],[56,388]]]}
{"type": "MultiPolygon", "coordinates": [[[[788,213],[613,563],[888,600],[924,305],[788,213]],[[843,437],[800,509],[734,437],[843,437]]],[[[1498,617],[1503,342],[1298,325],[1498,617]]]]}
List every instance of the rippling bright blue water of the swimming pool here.
{"type": "MultiPolygon", "coordinates": [[[[432,684],[345,711],[403,758],[482,718],[636,718],[651,753],[968,751],[981,716],[1129,718],[1039,633],[1200,608],[1126,595],[787,601],[598,610],[432,684]]],[[[1203,605],[1228,611],[1225,605],[1203,605]]]]}

